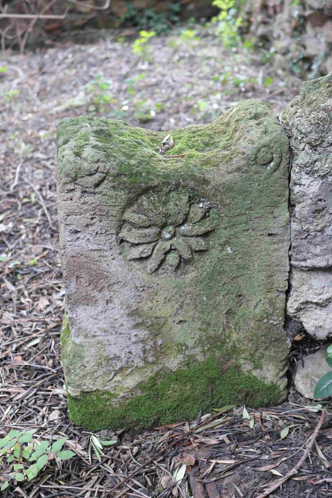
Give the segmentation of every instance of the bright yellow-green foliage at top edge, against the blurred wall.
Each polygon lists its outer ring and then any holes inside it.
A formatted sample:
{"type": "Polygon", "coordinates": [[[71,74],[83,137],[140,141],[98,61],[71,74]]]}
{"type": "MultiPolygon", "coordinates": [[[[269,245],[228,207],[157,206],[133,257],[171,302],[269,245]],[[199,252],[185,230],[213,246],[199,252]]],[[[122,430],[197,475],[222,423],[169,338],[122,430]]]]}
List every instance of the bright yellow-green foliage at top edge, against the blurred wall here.
{"type": "Polygon", "coordinates": [[[242,4],[238,0],[214,0],[212,5],[220,9],[217,16],[211,19],[212,23],[217,23],[215,33],[221,38],[225,48],[237,47],[241,42],[239,28],[242,24],[242,17],[238,15],[239,6],[242,4]]]}

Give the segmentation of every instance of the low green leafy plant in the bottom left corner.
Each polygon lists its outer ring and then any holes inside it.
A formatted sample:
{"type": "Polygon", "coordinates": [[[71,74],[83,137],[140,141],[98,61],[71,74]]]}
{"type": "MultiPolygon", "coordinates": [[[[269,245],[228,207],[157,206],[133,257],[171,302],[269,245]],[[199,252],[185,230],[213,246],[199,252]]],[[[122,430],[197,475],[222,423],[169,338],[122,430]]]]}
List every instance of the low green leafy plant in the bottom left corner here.
{"type": "Polygon", "coordinates": [[[0,468],[4,470],[2,477],[5,479],[0,491],[8,488],[10,481],[31,481],[50,460],[68,460],[75,456],[71,450],[62,450],[66,437],[54,441],[51,446],[49,441],[33,439],[34,432],[11,430],[0,439],[0,468]]]}

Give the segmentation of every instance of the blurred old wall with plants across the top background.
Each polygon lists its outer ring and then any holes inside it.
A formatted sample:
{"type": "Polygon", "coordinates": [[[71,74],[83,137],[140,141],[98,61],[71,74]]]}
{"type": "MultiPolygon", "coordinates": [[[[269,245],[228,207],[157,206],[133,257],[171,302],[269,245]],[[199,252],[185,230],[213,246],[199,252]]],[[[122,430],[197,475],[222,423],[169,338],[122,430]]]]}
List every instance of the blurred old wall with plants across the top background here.
{"type": "MultiPolygon", "coordinates": [[[[120,40],[139,31],[158,36],[185,24],[185,41],[214,34],[223,48],[264,49],[263,63],[273,58],[300,78],[332,71],[331,0],[0,0],[0,12],[2,50],[88,43],[109,30],[120,40]]],[[[140,38],[136,53],[148,52],[140,38]]]]}

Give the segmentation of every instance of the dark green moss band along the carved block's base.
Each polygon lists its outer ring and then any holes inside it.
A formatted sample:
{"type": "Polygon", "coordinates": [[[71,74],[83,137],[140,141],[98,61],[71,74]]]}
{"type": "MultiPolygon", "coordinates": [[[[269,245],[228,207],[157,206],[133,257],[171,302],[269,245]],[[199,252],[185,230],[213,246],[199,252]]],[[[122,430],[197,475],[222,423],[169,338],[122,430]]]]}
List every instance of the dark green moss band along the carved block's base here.
{"type": "Polygon", "coordinates": [[[68,394],[70,417],[90,430],[139,429],[177,420],[195,418],[226,404],[239,402],[257,407],[277,403],[280,390],[236,367],[222,371],[211,355],[205,362],[186,369],[151,377],[139,386],[141,394],[112,407],[111,393],[94,391],[75,398],[68,394]]]}

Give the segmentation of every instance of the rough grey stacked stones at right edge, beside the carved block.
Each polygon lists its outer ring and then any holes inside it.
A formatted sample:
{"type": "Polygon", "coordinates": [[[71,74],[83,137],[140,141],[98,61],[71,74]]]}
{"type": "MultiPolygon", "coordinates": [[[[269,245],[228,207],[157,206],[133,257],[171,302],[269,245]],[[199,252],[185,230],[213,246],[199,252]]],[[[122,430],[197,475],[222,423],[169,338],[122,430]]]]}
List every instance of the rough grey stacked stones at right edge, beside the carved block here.
{"type": "Polygon", "coordinates": [[[332,73],[304,83],[282,117],[293,153],[288,314],[324,339],[332,334],[332,73]]]}

